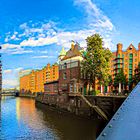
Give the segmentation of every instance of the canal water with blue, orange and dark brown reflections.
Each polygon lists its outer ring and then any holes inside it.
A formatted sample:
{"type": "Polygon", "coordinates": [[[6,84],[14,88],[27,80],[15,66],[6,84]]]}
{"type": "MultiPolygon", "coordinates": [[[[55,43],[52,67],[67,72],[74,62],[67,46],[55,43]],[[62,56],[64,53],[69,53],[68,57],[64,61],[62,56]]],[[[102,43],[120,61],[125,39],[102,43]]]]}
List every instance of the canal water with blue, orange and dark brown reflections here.
{"type": "Polygon", "coordinates": [[[0,140],[95,140],[98,121],[35,105],[33,99],[1,100],[0,140]]]}

